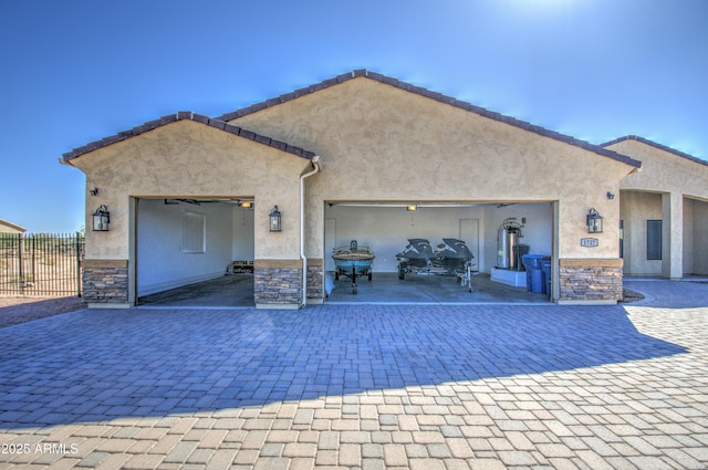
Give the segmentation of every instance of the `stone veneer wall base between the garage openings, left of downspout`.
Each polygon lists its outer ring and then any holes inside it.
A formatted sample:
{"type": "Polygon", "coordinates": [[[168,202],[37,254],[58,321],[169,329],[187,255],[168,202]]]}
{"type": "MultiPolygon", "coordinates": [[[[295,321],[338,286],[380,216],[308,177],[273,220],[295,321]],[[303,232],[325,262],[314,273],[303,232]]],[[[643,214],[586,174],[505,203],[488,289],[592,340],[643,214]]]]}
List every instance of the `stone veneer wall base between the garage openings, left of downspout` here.
{"type": "Polygon", "coordinates": [[[257,309],[299,309],[302,305],[302,261],[256,260],[253,300],[257,309]]]}

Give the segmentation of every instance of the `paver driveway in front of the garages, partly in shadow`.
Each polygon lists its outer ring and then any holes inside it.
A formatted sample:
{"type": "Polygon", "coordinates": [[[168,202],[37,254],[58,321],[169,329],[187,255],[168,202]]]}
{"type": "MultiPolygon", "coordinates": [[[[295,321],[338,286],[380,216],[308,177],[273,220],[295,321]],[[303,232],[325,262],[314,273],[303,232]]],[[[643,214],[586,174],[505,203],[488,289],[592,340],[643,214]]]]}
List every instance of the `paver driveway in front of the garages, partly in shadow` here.
{"type": "Polygon", "coordinates": [[[0,328],[0,468],[707,468],[708,284],[654,288],[0,328]]]}

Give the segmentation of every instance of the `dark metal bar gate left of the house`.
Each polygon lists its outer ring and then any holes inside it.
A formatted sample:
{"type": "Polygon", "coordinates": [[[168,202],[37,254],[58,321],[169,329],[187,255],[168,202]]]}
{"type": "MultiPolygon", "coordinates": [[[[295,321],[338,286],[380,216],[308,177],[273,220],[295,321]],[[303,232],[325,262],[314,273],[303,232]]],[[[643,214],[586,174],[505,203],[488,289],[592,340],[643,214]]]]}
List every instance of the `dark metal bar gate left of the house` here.
{"type": "Polygon", "coordinates": [[[0,294],[81,296],[83,233],[0,233],[0,294]]]}

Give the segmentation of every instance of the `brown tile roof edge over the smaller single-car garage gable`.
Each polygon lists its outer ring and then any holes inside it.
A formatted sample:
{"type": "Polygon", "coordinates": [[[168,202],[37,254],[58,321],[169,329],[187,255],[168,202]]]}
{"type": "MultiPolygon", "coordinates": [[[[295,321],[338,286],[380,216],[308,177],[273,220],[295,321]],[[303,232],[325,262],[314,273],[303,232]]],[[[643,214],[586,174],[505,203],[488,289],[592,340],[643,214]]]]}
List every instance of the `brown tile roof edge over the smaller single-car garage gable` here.
{"type": "Polygon", "coordinates": [[[111,137],[103,138],[101,140],[92,142],[91,144],[86,144],[83,147],[74,148],[73,150],[64,154],[62,156],[62,160],[64,163],[69,163],[73,158],[80,157],[84,154],[87,154],[93,150],[97,150],[103,147],[107,147],[108,145],[113,145],[115,143],[128,139],[131,137],[138,136],[148,130],[156,129],[158,127],[163,127],[167,124],[175,123],[177,121],[194,121],[195,123],[201,123],[211,127],[216,127],[229,134],[237,135],[239,137],[248,138],[250,140],[257,142],[259,144],[268,145],[269,147],[277,148],[282,152],[288,152],[290,154],[296,155],[302,158],[312,159],[314,157],[313,152],[304,150],[300,147],[295,147],[289,145],[284,142],[275,140],[270,137],[256,134],[253,132],[243,129],[238,126],[233,126],[231,124],[227,124],[223,121],[219,121],[218,118],[210,118],[208,116],[204,116],[201,114],[195,114],[190,111],[180,111],[177,114],[170,114],[167,116],[163,116],[159,119],[150,121],[140,126],[133,127],[129,130],[119,132],[111,137]]]}

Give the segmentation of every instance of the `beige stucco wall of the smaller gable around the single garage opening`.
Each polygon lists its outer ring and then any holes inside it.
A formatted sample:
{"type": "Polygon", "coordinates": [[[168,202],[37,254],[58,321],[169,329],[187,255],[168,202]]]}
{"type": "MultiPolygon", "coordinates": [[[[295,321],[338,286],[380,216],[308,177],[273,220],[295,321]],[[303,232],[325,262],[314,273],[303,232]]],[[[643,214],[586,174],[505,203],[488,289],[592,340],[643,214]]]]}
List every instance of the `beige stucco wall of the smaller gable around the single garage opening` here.
{"type": "Polygon", "coordinates": [[[100,206],[111,231],[86,232],[86,258],[127,260],[135,230],[131,199],[254,197],[256,259],[298,259],[300,175],[310,161],[223,130],[179,121],[71,160],[86,174],[86,227],[100,206]],[[98,196],[88,195],[98,188],[98,196]],[[278,205],[282,232],[269,232],[278,205]]]}

